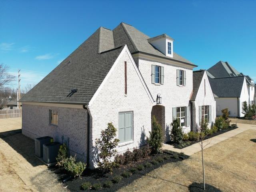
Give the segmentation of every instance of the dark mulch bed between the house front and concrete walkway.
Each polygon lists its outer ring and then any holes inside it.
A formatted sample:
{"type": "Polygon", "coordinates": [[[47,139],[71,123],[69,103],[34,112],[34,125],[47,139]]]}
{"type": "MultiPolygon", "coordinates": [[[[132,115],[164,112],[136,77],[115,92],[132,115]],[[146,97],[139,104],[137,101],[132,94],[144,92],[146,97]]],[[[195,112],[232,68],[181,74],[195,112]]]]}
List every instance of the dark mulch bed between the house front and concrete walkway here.
{"type": "MultiPolygon", "coordinates": [[[[238,127],[231,127],[231,126],[229,126],[227,129],[217,131],[216,133],[214,133],[214,134],[212,134],[212,135],[207,135],[207,136],[204,138],[204,140],[209,139],[209,138],[212,138],[212,137],[217,136],[217,135],[220,135],[220,134],[223,134],[223,133],[226,133],[226,132],[231,131],[231,130],[234,130],[234,129],[236,129],[236,128],[238,128],[238,127]]],[[[197,143],[197,142],[198,142],[198,141],[183,141],[181,144],[176,144],[176,143],[174,143],[174,142],[172,142],[172,141],[169,141],[169,142],[166,142],[166,144],[170,144],[170,145],[174,146],[174,148],[177,148],[177,149],[183,149],[183,148],[188,147],[188,146],[190,146],[190,145],[192,145],[192,144],[195,144],[195,143],[197,143]]]]}

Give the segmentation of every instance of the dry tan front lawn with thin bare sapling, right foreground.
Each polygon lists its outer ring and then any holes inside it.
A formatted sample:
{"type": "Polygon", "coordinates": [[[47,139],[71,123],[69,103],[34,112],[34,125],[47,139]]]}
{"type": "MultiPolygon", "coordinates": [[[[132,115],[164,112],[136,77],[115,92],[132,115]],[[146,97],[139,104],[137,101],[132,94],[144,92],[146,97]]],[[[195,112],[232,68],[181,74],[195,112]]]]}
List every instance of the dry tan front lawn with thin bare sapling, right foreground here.
{"type": "MultiPolygon", "coordinates": [[[[247,130],[204,150],[206,183],[221,191],[256,191],[256,130],[247,130]]],[[[182,162],[165,164],[132,184],[126,191],[189,191],[193,182],[202,182],[201,153],[182,162]]]]}

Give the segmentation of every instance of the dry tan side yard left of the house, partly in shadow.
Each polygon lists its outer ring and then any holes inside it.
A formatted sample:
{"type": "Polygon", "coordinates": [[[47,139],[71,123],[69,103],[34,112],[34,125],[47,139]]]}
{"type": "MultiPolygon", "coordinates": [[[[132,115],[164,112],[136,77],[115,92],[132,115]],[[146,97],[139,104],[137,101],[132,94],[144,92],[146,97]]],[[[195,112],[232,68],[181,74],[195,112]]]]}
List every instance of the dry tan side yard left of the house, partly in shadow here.
{"type": "Polygon", "coordinates": [[[0,192],[67,191],[58,174],[34,157],[34,140],[21,134],[21,118],[0,119],[0,192]]]}

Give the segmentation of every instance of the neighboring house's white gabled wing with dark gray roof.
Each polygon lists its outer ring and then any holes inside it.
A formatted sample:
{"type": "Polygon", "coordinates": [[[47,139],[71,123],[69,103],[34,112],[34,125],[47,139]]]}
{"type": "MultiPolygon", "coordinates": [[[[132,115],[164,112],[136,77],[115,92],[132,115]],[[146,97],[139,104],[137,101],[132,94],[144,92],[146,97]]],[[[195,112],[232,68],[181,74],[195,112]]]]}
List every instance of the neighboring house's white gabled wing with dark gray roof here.
{"type": "Polygon", "coordinates": [[[216,99],[216,114],[228,108],[231,117],[243,117],[243,104],[248,102],[249,93],[245,76],[209,78],[216,99]]]}

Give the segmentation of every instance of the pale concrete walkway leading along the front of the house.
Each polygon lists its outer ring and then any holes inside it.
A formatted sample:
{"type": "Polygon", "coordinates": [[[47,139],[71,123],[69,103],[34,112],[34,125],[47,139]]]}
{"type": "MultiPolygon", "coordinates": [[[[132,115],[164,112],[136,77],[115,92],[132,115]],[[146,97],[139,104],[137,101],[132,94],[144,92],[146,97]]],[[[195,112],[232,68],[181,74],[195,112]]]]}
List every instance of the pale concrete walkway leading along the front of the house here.
{"type": "MultiPolygon", "coordinates": [[[[233,136],[235,136],[239,133],[242,133],[242,132],[244,132],[248,129],[256,130],[256,125],[238,123],[237,126],[238,126],[238,128],[236,128],[234,130],[231,130],[231,131],[228,131],[226,133],[223,133],[223,134],[217,135],[215,137],[212,137],[210,139],[204,140],[204,144],[209,143],[204,149],[206,149],[210,146],[213,146],[214,144],[216,144],[218,142],[221,142],[223,140],[226,140],[230,137],[233,137],[233,136]]],[[[164,144],[163,150],[171,150],[171,151],[175,151],[175,152],[178,152],[178,153],[183,152],[184,154],[190,156],[190,155],[200,151],[201,147],[200,147],[199,143],[195,143],[195,144],[190,145],[188,147],[185,147],[183,149],[177,149],[177,148],[174,148],[172,145],[164,144]]]]}

